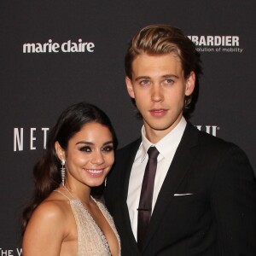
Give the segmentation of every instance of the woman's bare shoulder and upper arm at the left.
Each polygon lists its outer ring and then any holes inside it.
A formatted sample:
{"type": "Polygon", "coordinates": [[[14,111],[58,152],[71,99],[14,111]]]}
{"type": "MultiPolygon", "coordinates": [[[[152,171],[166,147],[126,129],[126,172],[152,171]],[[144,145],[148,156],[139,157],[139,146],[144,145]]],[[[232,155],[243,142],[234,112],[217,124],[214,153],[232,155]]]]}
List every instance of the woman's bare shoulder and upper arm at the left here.
{"type": "Polygon", "coordinates": [[[67,201],[47,199],[32,212],[22,243],[26,255],[60,253],[61,242],[67,236],[67,206],[67,201]]]}

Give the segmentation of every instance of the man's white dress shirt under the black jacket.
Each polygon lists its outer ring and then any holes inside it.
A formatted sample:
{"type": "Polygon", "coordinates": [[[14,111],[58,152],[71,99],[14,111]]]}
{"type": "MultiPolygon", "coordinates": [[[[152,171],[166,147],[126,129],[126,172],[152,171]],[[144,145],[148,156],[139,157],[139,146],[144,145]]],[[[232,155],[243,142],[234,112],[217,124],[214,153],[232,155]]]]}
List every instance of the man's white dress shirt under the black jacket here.
{"type": "Polygon", "coordinates": [[[141,195],[143,184],[143,176],[148,162],[148,148],[155,146],[159,151],[157,158],[157,169],[154,178],[154,193],[152,201],[152,212],[154,205],[159,195],[161,186],[165,180],[168,169],[172,163],[173,156],[176,152],[177,146],[183,137],[183,132],[186,128],[187,122],[184,118],[180,120],[177,126],[163,137],[158,143],[153,144],[148,141],[145,136],[145,128],[142,128],[142,143],[137,150],[137,154],[131,168],[131,176],[129,181],[129,189],[127,196],[127,206],[131,220],[131,229],[135,239],[137,240],[137,208],[141,195]]]}

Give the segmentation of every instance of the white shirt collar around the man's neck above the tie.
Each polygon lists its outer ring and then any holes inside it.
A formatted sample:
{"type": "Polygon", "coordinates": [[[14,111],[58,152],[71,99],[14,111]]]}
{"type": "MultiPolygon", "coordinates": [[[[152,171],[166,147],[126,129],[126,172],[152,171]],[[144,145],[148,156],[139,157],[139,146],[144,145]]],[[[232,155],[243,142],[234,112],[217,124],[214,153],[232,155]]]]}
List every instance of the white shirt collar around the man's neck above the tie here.
{"type": "Polygon", "coordinates": [[[148,152],[148,148],[155,146],[159,153],[164,157],[168,157],[170,152],[174,148],[177,148],[178,144],[181,141],[181,138],[183,137],[183,132],[185,131],[187,125],[186,119],[182,117],[180,119],[179,123],[174,127],[172,131],[170,131],[168,134],[166,134],[165,137],[161,138],[160,141],[156,144],[150,143],[146,137],[146,131],[145,127],[143,125],[142,127],[142,156],[141,161],[145,160],[148,152]]]}

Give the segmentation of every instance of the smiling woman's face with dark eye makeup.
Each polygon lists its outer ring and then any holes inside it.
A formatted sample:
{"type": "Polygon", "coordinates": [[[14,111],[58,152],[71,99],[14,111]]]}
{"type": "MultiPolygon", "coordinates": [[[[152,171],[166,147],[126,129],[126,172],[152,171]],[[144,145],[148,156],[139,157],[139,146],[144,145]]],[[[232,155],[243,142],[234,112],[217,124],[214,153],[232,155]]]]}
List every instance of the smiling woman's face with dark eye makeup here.
{"type": "Polygon", "coordinates": [[[107,126],[96,122],[85,124],[69,140],[64,154],[67,183],[99,186],[113,165],[112,134],[107,126]]]}

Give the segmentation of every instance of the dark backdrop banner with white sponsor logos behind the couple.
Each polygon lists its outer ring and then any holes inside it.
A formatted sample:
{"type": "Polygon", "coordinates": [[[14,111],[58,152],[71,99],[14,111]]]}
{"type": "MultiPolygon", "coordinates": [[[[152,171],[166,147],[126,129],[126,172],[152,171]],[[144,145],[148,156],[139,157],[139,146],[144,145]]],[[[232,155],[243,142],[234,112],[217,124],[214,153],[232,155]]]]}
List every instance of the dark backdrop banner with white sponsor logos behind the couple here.
{"type": "Polygon", "coordinates": [[[190,121],[238,144],[256,170],[255,8],[253,0],[1,1],[0,256],[21,255],[32,166],[64,108],[102,108],[119,147],[139,136],[124,55],[143,26],[178,26],[195,42],[204,74],[190,121]]]}

